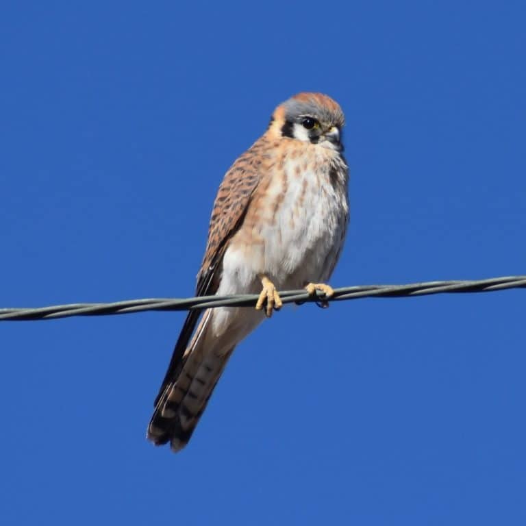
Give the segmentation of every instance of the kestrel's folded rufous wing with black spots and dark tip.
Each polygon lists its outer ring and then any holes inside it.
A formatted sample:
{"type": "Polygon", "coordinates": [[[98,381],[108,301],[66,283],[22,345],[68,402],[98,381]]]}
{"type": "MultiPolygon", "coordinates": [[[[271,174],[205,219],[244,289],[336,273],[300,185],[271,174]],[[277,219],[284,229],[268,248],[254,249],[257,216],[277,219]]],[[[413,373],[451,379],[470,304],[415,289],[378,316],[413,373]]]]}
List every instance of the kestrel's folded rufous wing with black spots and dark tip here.
{"type": "MultiPolygon", "coordinates": [[[[219,286],[225,249],[238,231],[262,177],[260,143],[256,142],[234,162],[219,186],[210,218],[205,255],[197,275],[196,296],[213,295],[219,286]]],[[[184,351],[200,315],[198,310],[188,312],[154,405],[157,405],[166,385],[179,375],[184,364],[184,351]]]]}

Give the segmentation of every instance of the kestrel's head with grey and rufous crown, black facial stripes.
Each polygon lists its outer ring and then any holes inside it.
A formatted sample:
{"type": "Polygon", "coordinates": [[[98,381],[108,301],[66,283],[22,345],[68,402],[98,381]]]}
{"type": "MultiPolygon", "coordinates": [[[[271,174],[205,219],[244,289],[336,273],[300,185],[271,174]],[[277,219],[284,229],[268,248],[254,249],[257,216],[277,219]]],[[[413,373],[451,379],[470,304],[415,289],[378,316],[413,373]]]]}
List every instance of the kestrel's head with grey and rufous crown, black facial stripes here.
{"type": "Polygon", "coordinates": [[[268,131],[328,149],[342,151],[345,123],[340,105],[321,93],[299,93],[281,103],[272,115],[268,131]]]}

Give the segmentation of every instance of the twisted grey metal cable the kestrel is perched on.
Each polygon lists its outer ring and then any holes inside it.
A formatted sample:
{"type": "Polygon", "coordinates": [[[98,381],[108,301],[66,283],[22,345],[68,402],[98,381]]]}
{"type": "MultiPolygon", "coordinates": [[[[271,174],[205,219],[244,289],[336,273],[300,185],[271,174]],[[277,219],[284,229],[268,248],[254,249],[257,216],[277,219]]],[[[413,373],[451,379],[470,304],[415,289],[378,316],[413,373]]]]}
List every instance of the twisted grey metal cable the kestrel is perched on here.
{"type": "MultiPolygon", "coordinates": [[[[425,281],[405,285],[364,285],[334,289],[334,296],[325,298],[323,292],[316,296],[305,290],[279,292],[283,303],[305,303],[343,301],[367,297],[395,298],[425,296],[442,292],[491,292],[507,288],[526,288],[526,275],[492,277],[472,281],[425,281]]],[[[129,314],[147,310],[201,310],[229,307],[253,307],[258,301],[257,294],[237,296],[201,296],[186,299],[150,298],[115,301],[114,303],[70,303],[40,308],[0,309],[0,321],[29,321],[68,318],[70,316],[104,316],[107,314],[129,314]]]]}

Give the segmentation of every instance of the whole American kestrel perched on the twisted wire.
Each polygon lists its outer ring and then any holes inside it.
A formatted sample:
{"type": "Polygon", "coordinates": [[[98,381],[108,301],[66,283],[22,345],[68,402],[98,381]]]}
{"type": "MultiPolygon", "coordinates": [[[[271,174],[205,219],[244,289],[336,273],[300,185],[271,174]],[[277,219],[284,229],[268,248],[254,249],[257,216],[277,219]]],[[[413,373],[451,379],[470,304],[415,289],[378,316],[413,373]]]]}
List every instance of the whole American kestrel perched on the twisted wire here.
{"type": "Polygon", "coordinates": [[[325,285],[349,219],[344,116],[321,93],[300,93],[275,109],[268,129],[219,187],[197,296],[260,293],[253,308],[190,311],[162,382],[147,436],[179,451],[205,410],[238,343],[273,310],[278,290],[325,285]],[[195,330],[194,330],[195,329],[195,330]]]}

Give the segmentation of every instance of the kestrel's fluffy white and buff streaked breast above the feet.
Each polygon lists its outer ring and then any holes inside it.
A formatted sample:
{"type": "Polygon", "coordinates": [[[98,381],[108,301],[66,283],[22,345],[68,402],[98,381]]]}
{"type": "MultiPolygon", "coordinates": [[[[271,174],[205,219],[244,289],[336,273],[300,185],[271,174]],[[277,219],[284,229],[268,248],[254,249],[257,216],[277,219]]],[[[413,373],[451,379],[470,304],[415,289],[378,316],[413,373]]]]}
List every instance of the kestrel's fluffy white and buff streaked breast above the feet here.
{"type": "Polygon", "coordinates": [[[281,289],[328,279],[348,215],[347,166],[338,155],[282,155],[255,190],[223,266],[242,266],[245,282],[266,274],[281,289]]]}

